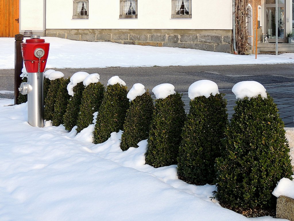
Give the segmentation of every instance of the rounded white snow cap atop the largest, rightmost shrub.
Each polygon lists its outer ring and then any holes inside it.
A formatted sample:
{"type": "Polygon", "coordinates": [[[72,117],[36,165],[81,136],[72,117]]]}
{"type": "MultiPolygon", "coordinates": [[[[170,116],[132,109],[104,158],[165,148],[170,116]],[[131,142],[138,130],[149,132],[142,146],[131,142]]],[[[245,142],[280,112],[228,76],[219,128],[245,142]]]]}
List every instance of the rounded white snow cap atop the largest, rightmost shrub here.
{"type": "Polygon", "coordinates": [[[266,89],[262,84],[256,81],[241,81],[234,85],[232,88],[233,93],[236,95],[236,99],[243,99],[245,97],[253,98],[259,94],[262,98],[267,98],[266,89]]]}

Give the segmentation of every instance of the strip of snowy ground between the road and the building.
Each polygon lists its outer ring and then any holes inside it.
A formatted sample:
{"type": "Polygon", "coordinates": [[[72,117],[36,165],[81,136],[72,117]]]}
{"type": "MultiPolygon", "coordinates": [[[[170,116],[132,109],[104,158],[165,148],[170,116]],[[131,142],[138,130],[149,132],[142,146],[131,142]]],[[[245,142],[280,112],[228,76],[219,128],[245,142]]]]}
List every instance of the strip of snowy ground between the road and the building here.
{"type": "MultiPolygon", "coordinates": [[[[50,43],[46,68],[141,67],[294,63],[294,54],[233,55],[194,49],[42,37],[50,43]]],[[[14,38],[0,38],[0,69],[14,68],[14,38]]]]}

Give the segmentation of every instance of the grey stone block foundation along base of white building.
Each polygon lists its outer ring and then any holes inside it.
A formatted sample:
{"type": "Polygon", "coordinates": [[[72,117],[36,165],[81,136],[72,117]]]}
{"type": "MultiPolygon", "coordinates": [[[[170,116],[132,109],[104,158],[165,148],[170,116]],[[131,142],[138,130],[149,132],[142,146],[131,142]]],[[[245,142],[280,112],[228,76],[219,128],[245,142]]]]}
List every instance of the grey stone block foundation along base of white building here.
{"type": "Polygon", "coordinates": [[[158,47],[232,52],[231,30],[186,29],[47,29],[45,36],[158,47]]]}

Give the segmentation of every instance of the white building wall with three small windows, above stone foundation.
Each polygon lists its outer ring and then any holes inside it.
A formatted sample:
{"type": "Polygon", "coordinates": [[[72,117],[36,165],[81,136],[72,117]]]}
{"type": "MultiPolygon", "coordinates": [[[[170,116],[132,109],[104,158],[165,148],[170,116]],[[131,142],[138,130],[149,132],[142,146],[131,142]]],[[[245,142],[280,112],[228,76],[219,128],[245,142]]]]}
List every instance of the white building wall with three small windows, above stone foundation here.
{"type": "Polygon", "coordinates": [[[46,29],[230,30],[232,0],[192,0],[192,19],[171,19],[171,0],[138,0],[138,19],[119,19],[119,0],[89,0],[89,19],[72,15],[72,0],[46,1],[46,29]]]}

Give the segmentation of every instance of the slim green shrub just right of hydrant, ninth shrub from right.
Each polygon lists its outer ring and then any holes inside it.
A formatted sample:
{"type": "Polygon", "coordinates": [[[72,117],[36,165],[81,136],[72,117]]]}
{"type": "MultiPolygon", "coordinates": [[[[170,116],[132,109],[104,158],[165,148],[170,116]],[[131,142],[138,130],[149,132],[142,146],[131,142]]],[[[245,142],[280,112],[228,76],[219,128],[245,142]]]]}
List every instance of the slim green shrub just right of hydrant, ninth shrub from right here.
{"type": "Polygon", "coordinates": [[[52,121],[52,119],[53,119],[54,105],[56,102],[56,95],[57,95],[58,89],[60,87],[61,81],[62,81],[61,78],[57,78],[55,80],[50,81],[49,90],[48,90],[47,96],[44,100],[44,105],[45,105],[44,119],[46,121],[50,121],[50,120],[52,121]]]}

